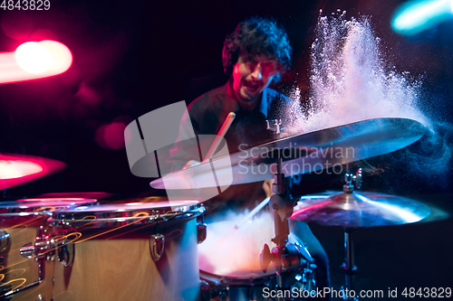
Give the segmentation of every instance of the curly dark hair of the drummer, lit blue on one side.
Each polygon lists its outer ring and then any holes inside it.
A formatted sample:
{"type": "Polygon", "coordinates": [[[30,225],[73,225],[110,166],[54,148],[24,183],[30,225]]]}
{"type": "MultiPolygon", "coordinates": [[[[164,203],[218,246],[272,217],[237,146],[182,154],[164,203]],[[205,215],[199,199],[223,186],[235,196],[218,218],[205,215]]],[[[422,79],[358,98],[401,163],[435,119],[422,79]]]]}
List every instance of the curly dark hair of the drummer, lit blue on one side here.
{"type": "MultiPolygon", "coordinates": [[[[291,53],[288,36],[275,20],[262,17],[252,17],[237,25],[236,30],[226,36],[222,51],[224,71],[231,75],[239,56],[245,56],[247,61],[265,55],[277,61],[279,73],[291,67],[291,53]]],[[[279,74],[275,81],[280,80],[279,74]]]]}

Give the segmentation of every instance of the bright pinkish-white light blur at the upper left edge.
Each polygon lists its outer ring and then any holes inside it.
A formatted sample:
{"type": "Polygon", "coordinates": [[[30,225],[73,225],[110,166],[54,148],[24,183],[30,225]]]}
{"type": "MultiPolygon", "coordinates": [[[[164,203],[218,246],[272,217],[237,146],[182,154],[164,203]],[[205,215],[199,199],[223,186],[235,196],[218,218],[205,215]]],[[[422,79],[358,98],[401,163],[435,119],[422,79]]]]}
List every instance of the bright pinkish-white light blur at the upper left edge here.
{"type": "Polygon", "coordinates": [[[24,42],[14,52],[0,52],[0,83],[53,76],[71,65],[72,53],[61,42],[24,42]]]}

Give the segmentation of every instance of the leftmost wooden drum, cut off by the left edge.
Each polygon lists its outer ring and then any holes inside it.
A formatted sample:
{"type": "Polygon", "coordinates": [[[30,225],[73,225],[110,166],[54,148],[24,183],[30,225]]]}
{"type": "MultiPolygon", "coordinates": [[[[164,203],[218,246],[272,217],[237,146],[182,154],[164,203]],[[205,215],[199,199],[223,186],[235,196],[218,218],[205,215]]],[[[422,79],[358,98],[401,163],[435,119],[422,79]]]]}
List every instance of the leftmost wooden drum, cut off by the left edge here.
{"type": "MultiPolygon", "coordinates": [[[[0,202],[0,282],[11,287],[12,291],[4,293],[13,300],[34,299],[39,295],[50,300],[52,286],[46,285],[44,277],[45,270],[52,273],[53,266],[50,262],[44,262],[46,260],[34,257],[34,241],[37,236],[45,235],[45,221],[54,210],[92,204],[96,200],[78,198],[20,201],[0,202]],[[29,252],[24,252],[24,249],[29,252]]],[[[46,278],[49,280],[52,276],[46,278]]]]}

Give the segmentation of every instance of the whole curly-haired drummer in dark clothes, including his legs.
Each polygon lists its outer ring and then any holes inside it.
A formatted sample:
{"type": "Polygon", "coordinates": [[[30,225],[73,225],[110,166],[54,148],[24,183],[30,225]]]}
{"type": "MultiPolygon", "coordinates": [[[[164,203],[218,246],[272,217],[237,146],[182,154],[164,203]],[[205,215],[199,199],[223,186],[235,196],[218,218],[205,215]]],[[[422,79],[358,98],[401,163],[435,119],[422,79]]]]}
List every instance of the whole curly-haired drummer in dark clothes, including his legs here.
{"type": "MultiPolygon", "coordinates": [[[[230,154],[271,140],[273,133],[265,128],[265,119],[285,118],[291,123],[297,118],[294,103],[268,88],[290,68],[291,54],[288,36],[275,21],[252,17],[238,24],[226,37],[222,52],[229,80],[190,103],[189,118],[183,117],[180,130],[190,127],[191,123],[196,135],[217,135],[228,113],[235,112],[236,118],[225,136],[230,154]],[[293,114],[288,114],[289,111],[293,114]]],[[[184,158],[182,147],[172,153],[173,169],[183,168],[187,160],[181,159],[184,158]]],[[[272,195],[272,181],[230,186],[207,202],[207,214],[227,209],[237,212],[253,209],[259,201],[272,195]]],[[[321,243],[302,221],[292,222],[292,231],[313,255],[318,267],[315,271],[317,287],[330,287],[328,259],[321,243]]]]}

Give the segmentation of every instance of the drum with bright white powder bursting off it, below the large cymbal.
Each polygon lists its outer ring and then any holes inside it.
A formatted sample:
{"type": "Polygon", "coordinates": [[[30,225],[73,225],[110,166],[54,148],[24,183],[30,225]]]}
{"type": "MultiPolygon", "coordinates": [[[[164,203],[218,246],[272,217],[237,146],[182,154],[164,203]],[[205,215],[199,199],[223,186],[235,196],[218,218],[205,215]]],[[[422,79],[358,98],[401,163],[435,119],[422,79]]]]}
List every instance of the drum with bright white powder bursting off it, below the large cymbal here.
{"type": "MultiPolygon", "coordinates": [[[[226,221],[207,223],[207,239],[198,245],[202,301],[275,300],[270,294],[276,286],[275,268],[271,264],[263,272],[259,261],[264,244],[274,245],[274,222],[267,212],[246,223],[242,222],[245,216],[233,213],[223,217],[226,221]]],[[[293,234],[289,240],[308,252],[293,234]]],[[[292,271],[298,293],[307,291],[308,296],[313,290],[314,267],[303,259],[301,267],[292,271]]]]}

